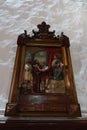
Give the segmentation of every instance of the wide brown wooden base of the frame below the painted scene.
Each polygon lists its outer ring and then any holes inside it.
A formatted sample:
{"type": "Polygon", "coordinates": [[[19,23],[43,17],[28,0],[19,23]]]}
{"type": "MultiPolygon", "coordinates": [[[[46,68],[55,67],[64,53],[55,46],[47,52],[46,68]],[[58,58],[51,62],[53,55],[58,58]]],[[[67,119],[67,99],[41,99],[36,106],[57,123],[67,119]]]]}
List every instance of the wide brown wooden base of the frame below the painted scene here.
{"type": "Polygon", "coordinates": [[[7,103],[5,116],[80,117],[78,103],[70,103],[65,94],[20,95],[18,103],[7,103]]]}

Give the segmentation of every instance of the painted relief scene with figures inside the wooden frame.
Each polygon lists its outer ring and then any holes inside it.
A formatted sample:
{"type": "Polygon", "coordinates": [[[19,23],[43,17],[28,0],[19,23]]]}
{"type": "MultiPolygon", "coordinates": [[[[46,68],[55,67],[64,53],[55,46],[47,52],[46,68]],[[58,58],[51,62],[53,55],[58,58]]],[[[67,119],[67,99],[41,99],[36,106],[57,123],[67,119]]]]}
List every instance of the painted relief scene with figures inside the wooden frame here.
{"type": "Polygon", "coordinates": [[[61,49],[28,48],[25,52],[20,92],[64,93],[63,68],[61,49]]]}

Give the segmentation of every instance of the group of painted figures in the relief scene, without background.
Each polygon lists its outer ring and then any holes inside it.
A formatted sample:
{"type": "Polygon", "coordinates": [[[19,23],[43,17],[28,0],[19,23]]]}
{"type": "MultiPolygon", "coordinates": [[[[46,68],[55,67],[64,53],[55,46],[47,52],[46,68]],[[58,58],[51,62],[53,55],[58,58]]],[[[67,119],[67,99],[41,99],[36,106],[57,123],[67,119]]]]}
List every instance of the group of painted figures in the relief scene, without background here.
{"type": "Polygon", "coordinates": [[[57,54],[54,55],[50,66],[37,59],[32,61],[31,57],[28,57],[24,65],[20,92],[23,94],[52,93],[53,89],[58,87],[58,82],[64,79],[63,66],[57,54]]]}

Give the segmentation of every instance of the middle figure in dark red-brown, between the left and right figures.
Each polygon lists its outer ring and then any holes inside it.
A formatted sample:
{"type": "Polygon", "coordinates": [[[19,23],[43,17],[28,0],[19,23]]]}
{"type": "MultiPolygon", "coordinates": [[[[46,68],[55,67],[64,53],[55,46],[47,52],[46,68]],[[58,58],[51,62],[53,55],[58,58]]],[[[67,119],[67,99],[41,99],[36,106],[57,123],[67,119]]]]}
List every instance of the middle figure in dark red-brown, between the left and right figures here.
{"type": "Polygon", "coordinates": [[[39,63],[35,61],[34,74],[36,77],[36,92],[45,92],[45,88],[48,85],[48,66],[45,63],[39,63]]]}

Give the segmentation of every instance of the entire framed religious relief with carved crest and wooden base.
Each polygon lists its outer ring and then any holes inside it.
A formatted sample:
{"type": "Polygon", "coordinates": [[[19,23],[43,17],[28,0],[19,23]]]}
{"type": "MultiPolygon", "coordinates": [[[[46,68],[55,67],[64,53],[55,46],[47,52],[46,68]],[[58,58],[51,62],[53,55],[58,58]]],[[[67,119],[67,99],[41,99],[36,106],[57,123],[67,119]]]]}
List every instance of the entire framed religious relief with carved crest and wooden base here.
{"type": "Polygon", "coordinates": [[[69,38],[42,22],[18,36],[5,116],[81,116],[69,38]]]}

